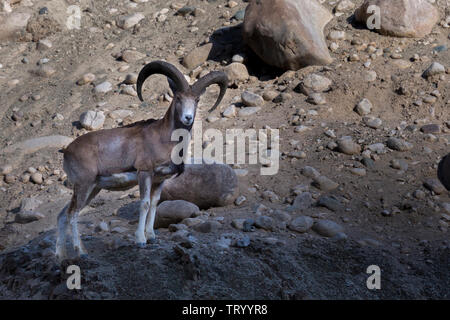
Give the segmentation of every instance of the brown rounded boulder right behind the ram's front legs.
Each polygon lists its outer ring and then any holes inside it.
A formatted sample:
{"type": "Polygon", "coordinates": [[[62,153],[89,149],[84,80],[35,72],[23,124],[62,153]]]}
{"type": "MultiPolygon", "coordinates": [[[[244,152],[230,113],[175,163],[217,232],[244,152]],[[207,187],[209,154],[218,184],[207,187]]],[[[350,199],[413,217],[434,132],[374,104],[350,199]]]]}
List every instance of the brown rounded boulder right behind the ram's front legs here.
{"type": "Polygon", "coordinates": [[[222,207],[237,196],[237,177],[225,164],[186,164],[178,177],[166,180],[161,200],[186,200],[201,209],[222,207]]]}

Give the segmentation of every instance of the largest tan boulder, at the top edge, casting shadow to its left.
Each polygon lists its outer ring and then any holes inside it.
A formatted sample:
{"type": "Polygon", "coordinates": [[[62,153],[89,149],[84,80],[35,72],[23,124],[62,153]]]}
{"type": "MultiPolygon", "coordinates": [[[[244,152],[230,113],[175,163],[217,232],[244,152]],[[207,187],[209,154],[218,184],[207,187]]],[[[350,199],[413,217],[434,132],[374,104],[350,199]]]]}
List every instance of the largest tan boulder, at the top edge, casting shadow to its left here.
{"type": "Polygon", "coordinates": [[[267,64],[285,70],[332,62],[323,29],[333,18],[316,0],[251,0],[244,42],[267,64]]]}

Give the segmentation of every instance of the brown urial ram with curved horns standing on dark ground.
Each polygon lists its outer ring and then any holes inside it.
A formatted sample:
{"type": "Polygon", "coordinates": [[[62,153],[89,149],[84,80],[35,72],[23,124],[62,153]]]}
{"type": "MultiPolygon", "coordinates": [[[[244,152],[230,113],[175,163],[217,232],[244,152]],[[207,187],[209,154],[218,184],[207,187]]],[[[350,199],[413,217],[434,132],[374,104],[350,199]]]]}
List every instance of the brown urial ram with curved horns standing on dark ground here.
{"type": "Polygon", "coordinates": [[[228,84],[223,72],[213,71],[189,85],[175,66],[154,61],[141,70],[137,79],[137,93],[141,101],[142,85],[153,74],[165,75],[174,93],[163,118],[90,132],[78,137],[63,150],[64,171],[73,184],[73,196],[58,216],[56,256],[60,260],[66,256],[69,224],[76,253],[78,256],[86,254],[78,232],[78,215],[102,189],[127,190],[139,184],[141,203],[136,243],[145,246],[147,239],[155,239],[153,224],[162,184],[184,169],[182,164],[174,165],[171,161],[172,149],[179,143],[172,141],[172,133],[177,129],[191,130],[198,101],[208,86],[220,86],[219,97],[209,110],[212,111],[222,101],[228,84]]]}

